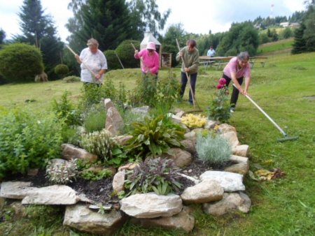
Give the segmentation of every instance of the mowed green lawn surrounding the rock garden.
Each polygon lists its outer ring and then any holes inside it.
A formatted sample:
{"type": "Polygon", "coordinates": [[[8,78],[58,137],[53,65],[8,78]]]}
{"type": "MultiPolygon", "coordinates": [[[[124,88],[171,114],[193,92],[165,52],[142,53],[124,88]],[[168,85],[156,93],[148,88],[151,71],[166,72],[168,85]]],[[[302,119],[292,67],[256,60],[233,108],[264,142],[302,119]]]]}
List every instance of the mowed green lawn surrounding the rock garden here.
{"type": "MultiPolygon", "coordinates": [[[[230,124],[237,128],[241,144],[250,146],[251,171],[259,168],[280,168],[286,173],[284,177],[266,182],[256,182],[248,175],[244,177],[246,194],[252,200],[248,214],[214,217],[203,214],[202,207],[194,205],[196,222],[192,233],[145,229],[128,222],[117,235],[315,235],[314,61],[314,52],[297,55],[272,54],[267,59],[265,68],[257,66],[252,70],[249,90],[251,98],[289,136],[298,136],[298,140],[276,142],[277,138],[283,137],[281,133],[246,97],[239,97],[237,110],[233,113],[230,124]]],[[[179,69],[162,70],[159,75],[162,78],[169,76],[169,73],[179,78],[179,69]]],[[[207,108],[209,98],[215,94],[215,86],[221,75],[221,71],[206,71],[201,67],[196,99],[203,110],[207,108]]],[[[111,71],[106,78],[111,78],[117,85],[123,82],[127,89],[132,89],[139,76],[141,74],[138,69],[127,69],[111,71]]],[[[32,109],[42,110],[49,106],[53,98],[59,98],[65,89],[72,92],[75,101],[80,87],[80,82],[64,84],[60,81],[2,85],[0,105],[7,108],[27,105],[32,109]],[[25,103],[29,98],[36,101],[25,103]]],[[[184,96],[185,100],[187,98],[188,91],[184,96]]],[[[178,106],[183,110],[193,109],[186,101],[178,106]]],[[[10,232],[8,235],[34,234],[34,227],[29,224],[27,219],[20,219],[9,225],[0,223],[0,234],[5,232],[5,228],[6,232],[10,232]],[[27,230],[22,231],[22,226],[27,230]]],[[[37,227],[40,226],[38,223],[37,227]]],[[[55,223],[53,227],[43,228],[41,233],[70,234],[61,223],[55,223]]]]}

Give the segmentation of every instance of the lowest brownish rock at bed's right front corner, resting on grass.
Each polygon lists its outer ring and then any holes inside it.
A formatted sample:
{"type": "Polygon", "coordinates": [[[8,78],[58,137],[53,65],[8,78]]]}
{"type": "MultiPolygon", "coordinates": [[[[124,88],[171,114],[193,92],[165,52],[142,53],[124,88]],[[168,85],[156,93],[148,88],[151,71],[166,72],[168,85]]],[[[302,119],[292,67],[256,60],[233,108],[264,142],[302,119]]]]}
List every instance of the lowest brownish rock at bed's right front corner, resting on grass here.
{"type": "Polygon", "coordinates": [[[245,193],[224,193],[223,199],[214,203],[204,203],[203,209],[207,214],[221,216],[238,209],[247,213],[251,207],[251,199],[245,193]]]}

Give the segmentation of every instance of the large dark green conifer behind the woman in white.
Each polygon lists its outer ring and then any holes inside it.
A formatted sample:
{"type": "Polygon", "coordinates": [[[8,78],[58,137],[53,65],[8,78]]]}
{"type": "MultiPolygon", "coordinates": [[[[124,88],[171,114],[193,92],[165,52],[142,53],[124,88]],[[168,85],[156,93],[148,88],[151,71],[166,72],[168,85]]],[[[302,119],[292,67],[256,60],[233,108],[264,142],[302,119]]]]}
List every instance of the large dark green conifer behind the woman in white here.
{"type": "Polygon", "coordinates": [[[96,38],[100,50],[115,49],[123,40],[139,39],[139,29],[132,24],[132,17],[125,0],[80,1],[75,19],[66,27],[73,34],[70,43],[76,50],[85,46],[86,40],[96,38]]]}

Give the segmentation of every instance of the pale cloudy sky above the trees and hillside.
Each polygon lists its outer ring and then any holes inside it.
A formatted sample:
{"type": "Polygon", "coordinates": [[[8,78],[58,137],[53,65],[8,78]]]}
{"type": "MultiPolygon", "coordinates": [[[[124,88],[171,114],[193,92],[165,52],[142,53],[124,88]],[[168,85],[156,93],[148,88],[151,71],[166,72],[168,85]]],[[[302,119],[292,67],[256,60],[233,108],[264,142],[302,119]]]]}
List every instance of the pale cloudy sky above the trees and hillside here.
{"type": "MultiPolygon", "coordinates": [[[[290,16],[305,9],[305,0],[156,0],[160,12],[172,10],[167,20],[170,24],[183,24],[188,33],[208,34],[228,31],[232,22],[254,20],[256,17],[290,16]],[[272,8],[273,5],[273,8],[272,8]]],[[[6,38],[20,34],[19,17],[22,0],[0,0],[0,28],[6,38]]],[[[69,0],[42,0],[46,14],[52,15],[62,40],[69,32],[64,24],[72,16],[67,9],[69,0]]],[[[166,27],[167,28],[167,27],[166,27]]]]}

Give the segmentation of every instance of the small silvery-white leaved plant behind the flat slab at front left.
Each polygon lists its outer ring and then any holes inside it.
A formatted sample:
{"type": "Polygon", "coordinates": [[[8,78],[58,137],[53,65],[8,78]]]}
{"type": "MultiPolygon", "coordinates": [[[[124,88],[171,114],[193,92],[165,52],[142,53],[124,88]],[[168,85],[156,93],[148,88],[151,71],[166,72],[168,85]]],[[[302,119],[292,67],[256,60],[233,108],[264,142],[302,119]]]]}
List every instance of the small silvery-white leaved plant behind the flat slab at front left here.
{"type": "Polygon", "coordinates": [[[46,177],[52,184],[67,184],[76,179],[78,167],[76,160],[64,161],[62,163],[48,163],[46,167],[46,177]]]}

